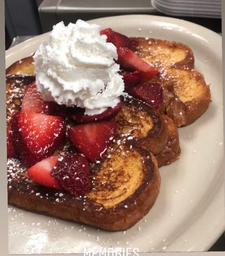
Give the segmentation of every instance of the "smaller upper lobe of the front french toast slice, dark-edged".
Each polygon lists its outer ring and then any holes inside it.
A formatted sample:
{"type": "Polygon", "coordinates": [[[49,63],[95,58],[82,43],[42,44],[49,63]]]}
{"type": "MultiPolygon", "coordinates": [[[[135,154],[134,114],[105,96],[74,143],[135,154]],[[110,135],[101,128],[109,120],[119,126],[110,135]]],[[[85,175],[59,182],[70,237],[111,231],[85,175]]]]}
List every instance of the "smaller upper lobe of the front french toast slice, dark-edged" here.
{"type": "Polygon", "coordinates": [[[118,129],[118,133],[125,134],[131,142],[134,137],[138,145],[154,155],[159,154],[168,141],[168,128],[159,111],[130,96],[122,97],[121,101],[124,106],[116,121],[122,129],[118,129]]]}

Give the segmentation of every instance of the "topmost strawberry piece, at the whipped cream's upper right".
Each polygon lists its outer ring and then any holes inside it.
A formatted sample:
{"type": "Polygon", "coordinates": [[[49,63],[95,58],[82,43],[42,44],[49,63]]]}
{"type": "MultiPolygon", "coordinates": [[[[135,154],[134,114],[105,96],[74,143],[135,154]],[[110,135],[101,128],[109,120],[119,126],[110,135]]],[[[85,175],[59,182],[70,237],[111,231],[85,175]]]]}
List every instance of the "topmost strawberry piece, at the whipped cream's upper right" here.
{"type": "Polygon", "coordinates": [[[127,47],[133,49],[137,45],[137,42],[133,38],[129,38],[124,34],[113,31],[112,28],[101,30],[100,34],[105,34],[107,36],[107,42],[113,43],[116,48],[127,47]]]}

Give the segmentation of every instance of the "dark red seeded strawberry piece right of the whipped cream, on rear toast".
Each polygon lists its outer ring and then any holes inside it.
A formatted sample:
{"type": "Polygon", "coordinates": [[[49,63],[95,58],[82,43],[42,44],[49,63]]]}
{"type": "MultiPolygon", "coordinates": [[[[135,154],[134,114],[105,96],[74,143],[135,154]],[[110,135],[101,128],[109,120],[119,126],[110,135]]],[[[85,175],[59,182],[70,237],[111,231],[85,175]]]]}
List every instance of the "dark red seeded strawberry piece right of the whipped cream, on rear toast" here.
{"type": "Polygon", "coordinates": [[[158,83],[140,84],[135,86],[130,94],[138,98],[155,109],[159,108],[163,102],[162,86],[158,83]]]}

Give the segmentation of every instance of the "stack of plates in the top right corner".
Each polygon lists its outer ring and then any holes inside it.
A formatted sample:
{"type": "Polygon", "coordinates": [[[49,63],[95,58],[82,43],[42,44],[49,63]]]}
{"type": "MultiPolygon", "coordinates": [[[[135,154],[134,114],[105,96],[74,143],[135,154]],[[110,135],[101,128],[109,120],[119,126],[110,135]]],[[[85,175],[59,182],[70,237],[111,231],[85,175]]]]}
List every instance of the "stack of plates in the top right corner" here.
{"type": "Polygon", "coordinates": [[[221,0],[151,0],[151,4],[167,15],[221,18],[221,0]]]}

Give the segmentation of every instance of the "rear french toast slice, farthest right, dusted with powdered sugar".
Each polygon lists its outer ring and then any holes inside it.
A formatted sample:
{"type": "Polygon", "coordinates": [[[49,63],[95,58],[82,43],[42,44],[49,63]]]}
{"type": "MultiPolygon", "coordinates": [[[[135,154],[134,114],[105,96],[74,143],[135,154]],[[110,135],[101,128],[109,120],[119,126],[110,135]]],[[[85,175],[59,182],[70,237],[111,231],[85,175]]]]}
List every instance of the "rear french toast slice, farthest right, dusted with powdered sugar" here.
{"type": "Polygon", "coordinates": [[[196,121],[211,102],[209,85],[194,69],[194,55],[188,46],[173,41],[135,37],[134,52],[160,70],[149,82],[164,88],[165,105],[161,108],[178,127],[196,121]]]}

